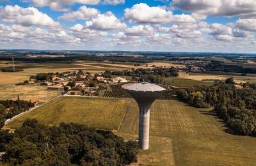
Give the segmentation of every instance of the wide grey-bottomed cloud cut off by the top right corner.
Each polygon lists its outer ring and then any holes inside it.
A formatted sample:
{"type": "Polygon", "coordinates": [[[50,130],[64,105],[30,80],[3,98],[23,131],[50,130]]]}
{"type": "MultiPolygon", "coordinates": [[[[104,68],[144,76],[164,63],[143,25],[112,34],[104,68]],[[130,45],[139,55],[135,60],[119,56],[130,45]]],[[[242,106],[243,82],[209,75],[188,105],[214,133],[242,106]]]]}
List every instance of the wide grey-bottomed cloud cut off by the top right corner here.
{"type": "Polygon", "coordinates": [[[173,0],[173,6],[203,15],[255,17],[255,0],[173,0]]]}

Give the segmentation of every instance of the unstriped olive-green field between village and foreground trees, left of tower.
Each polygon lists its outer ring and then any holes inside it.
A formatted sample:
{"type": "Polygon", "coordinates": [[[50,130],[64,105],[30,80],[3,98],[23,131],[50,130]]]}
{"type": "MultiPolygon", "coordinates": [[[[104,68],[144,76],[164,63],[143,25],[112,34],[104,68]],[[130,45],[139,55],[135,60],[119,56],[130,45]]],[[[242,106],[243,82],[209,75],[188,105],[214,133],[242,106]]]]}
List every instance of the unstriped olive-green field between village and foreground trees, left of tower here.
{"type": "Polygon", "coordinates": [[[18,128],[28,118],[54,125],[86,124],[95,128],[118,130],[129,105],[127,100],[102,100],[84,97],[60,97],[15,119],[7,128],[18,128]]]}

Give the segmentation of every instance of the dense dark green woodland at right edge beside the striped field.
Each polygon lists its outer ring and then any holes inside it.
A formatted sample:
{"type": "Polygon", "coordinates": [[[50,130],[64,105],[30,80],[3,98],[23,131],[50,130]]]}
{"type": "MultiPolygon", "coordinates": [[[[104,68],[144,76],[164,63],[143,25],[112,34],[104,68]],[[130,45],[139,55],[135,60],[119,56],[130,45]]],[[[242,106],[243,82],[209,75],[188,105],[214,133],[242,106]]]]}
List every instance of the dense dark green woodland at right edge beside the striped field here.
{"type": "Polygon", "coordinates": [[[214,107],[232,131],[256,136],[256,84],[246,83],[239,89],[234,84],[195,86],[177,90],[177,98],[194,107],[214,107]]]}

